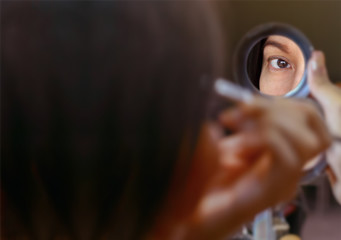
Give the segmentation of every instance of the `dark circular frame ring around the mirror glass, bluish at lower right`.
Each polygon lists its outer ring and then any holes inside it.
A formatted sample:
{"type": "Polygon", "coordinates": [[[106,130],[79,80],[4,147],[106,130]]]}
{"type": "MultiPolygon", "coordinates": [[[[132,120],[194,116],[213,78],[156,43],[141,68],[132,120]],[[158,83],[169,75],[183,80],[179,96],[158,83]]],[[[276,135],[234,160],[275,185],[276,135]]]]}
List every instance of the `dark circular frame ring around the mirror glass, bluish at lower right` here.
{"type": "MultiPolygon", "coordinates": [[[[247,72],[247,60],[253,47],[262,39],[270,35],[280,35],[293,40],[301,49],[304,61],[305,70],[302,80],[297,87],[282,97],[307,97],[309,94],[309,87],[307,83],[307,63],[310,59],[311,53],[314,50],[309,39],[298,29],[291,25],[284,23],[271,22],[259,25],[249,32],[239,42],[233,61],[233,74],[234,79],[242,86],[252,90],[255,93],[262,94],[258,88],[252,83],[247,72]]],[[[266,94],[262,94],[269,96],[266,94]]]]}

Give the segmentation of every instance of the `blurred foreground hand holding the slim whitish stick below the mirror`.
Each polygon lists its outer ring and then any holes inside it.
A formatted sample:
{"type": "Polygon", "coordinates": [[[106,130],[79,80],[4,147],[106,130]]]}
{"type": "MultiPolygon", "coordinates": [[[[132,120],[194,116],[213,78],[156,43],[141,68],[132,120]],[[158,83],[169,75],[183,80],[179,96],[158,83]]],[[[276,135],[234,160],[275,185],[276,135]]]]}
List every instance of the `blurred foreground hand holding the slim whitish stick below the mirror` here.
{"type": "Polygon", "coordinates": [[[320,114],[303,101],[256,99],[225,112],[221,123],[238,133],[219,143],[220,181],[199,204],[192,239],[219,239],[226,226],[236,228],[259,211],[292,198],[303,165],[330,144],[320,114]]]}

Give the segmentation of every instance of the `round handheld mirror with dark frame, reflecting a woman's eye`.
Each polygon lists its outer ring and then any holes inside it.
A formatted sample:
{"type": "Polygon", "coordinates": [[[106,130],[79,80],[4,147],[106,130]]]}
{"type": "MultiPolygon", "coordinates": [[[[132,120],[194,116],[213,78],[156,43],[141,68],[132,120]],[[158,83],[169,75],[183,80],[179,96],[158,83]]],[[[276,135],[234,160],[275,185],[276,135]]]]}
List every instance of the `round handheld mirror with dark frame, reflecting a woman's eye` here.
{"type": "Polygon", "coordinates": [[[296,28],[268,23],[249,31],[234,57],[234,78],[254,92],[306,97],[306,63],[313,47],[296,28]]]}

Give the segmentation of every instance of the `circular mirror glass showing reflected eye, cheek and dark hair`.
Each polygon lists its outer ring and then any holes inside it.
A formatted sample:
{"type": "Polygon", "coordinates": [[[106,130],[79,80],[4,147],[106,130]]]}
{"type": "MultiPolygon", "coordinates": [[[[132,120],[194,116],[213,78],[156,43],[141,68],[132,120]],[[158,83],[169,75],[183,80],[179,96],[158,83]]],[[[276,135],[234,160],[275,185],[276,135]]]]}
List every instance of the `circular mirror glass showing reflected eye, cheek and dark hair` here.
{"type": "Polygon", "coordinates": [[[300,47],[291,39],[270,35],[260,40],[247,60],[248,75],[256,88],[273,96],[285,95],[301,81],[305,61],[300,47]]]}

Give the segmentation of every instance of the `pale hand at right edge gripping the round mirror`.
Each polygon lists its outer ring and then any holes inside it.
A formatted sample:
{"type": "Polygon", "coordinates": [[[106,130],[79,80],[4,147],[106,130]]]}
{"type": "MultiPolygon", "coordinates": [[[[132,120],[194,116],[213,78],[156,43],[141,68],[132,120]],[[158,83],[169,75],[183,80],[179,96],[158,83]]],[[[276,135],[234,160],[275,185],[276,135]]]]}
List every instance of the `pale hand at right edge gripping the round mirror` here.
{"type": "MultiPolygon", "coordinates": [[[[329,131],[341,137],[341,89],[328,77],[325,57],[314,51],[308,63],[308,83],[312,96],[320,103],[329,131]]],[[[341,143],[333,143],[327,151],[328,175],[335,198],[341,204],[341,143]]]]}

